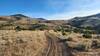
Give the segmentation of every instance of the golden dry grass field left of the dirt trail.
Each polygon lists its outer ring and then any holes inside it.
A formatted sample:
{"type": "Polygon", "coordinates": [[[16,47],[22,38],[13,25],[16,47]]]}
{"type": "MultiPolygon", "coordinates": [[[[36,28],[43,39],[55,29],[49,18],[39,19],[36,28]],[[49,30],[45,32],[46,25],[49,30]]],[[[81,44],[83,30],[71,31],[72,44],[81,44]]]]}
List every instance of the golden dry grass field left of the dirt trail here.
{"type": "Polygon", "coordinates": [[[36,56],[45,43],[44,31],[0,30],[0,56],[36,56]]]}

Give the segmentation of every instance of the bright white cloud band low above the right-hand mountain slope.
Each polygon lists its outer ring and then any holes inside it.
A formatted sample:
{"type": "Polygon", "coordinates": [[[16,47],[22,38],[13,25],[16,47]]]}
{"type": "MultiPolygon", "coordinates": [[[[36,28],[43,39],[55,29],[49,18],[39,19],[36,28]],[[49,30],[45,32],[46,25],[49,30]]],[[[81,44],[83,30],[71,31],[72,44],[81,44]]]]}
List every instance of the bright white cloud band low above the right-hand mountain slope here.
{"type": "Polygon", "coordinates": [[[87,10],[87,11],[72,11],[72,12],[64,12],[64,13],[60,13],[60,14],[54,14],[54,15],[50,15],[47,16],[46,18],[48,18],[49,20],[68,20],[71,19],[73,17],[82,17],[82,16],[88,16],[88,15],[92,15],[92,14],[97,14],[100,13],[100,10],[87,10]]]}

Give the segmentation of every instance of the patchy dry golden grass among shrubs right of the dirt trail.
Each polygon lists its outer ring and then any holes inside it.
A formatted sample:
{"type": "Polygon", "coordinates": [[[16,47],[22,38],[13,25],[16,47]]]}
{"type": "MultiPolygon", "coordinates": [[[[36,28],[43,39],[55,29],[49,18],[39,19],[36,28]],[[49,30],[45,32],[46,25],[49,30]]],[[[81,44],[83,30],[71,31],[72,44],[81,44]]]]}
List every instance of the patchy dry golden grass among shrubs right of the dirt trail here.
{"type": "MultiPolygon", "coordinates": [[[[60,37],[62,36],[61,32],[54,32],[53,30],[50,31],[51,33],[55,34],[56,36],[60,37]]],[[[74,52],[73,55],[75,56],[100,56],[100,48],[98,49],[92,49],[91,44],[92,44],[92,38],[84,38],[80,33],[68,33],[66,32],[67,35],[65,35],[63,38],[72,38],[72,41],[67,41],[68,46],[71,48],[74,48],[78,46],[79,44],[87,46],[86,49],[88,49],[88,52],[83,51],[83,52],[74,52]]],[[[62,37],[60,37],[62,38],[62,37]]],[[[100,43],[100,39],[94,39],[98,43],[100,43]]]]}

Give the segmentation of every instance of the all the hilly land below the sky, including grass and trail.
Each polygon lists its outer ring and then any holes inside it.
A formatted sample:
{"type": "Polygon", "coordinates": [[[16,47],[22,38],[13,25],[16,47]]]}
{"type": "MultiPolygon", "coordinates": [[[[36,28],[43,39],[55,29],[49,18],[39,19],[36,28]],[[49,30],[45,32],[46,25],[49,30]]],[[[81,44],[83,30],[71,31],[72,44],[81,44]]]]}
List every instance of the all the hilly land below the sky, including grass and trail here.
{"type": "Polygon", "coordinates": [[[31,18],[22,14],[1,16],[0,56],[99,55],[100,34],[85,29],[88,26],[99,29],[99,18],[100,14],[68,21],[31,18]]]}

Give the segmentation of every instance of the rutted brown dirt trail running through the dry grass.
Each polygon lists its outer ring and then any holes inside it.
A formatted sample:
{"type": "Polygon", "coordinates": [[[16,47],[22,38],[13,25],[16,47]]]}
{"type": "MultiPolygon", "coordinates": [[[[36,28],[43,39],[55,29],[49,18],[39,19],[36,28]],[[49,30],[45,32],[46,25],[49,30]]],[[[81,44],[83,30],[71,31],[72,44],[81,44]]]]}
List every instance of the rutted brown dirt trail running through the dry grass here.
{"type": "Polygon", "coordinates": [[[48,41],[48,47],[45,48],[45,54],[42,56],[73,56],[71,49],[65,42],[60,42],[61,39],[55,35],[45,32],[48,41]]]}

